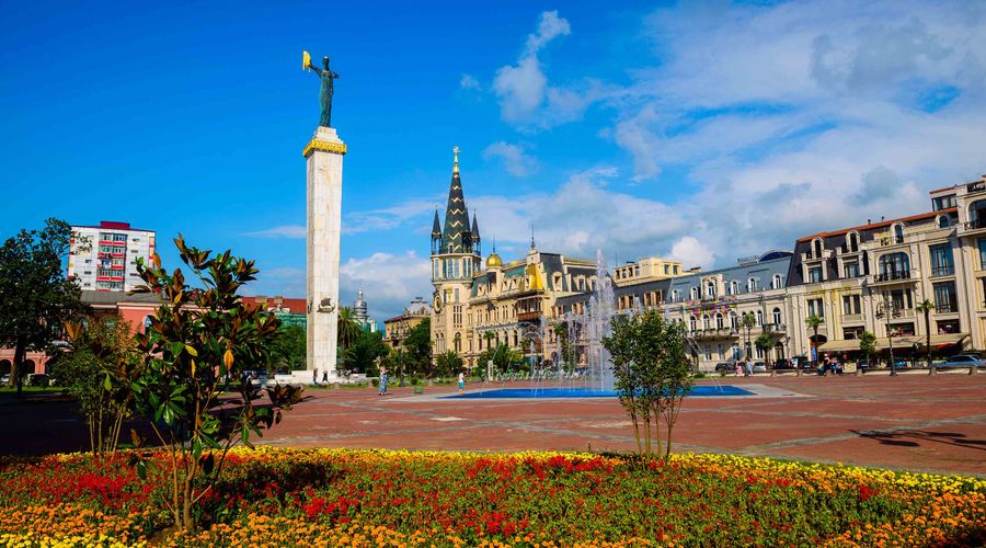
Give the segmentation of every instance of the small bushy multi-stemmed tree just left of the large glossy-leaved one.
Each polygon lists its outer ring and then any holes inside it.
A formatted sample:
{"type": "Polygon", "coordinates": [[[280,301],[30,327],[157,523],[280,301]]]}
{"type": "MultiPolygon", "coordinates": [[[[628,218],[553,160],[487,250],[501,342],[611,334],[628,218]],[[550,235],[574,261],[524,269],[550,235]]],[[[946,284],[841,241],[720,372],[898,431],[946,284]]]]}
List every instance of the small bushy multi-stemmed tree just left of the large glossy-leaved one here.
{"type": "Polygon", "coordinates": [[[140,369],[130,324],[118,316],[68,322],[70,350],[56,361],[54,374],[79,403],[89,425],[93,455],[114,452],[123,422],[133,414],[130,389],[140,369]]]}

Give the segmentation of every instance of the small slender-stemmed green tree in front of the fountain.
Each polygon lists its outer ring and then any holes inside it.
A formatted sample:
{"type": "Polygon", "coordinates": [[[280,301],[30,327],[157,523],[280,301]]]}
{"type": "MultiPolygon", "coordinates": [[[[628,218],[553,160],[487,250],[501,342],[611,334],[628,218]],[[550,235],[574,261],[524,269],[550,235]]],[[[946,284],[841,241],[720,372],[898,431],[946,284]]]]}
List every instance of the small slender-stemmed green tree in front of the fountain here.
{"type": "Polygon", "coordinates": [[[610,353],[615,388],[630,415],[638,450],[652,454],[652,439],[661,452],[661,421],[667,432],[665,456],[681,401],[691,389],[685,354],[685,327],[669,322],[656,310],[617,316],[612,333],[603,339],[610,353]],[[653,430],[653,435],[652,435],[653,430]]]}

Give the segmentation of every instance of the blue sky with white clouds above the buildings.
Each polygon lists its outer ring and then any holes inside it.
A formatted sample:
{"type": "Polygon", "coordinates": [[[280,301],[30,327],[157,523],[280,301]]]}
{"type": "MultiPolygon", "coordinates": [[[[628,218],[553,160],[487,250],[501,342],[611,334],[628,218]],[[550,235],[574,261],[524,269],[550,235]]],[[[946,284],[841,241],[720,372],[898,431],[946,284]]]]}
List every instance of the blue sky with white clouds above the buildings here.
{"type": "Polygon", "coordinates": [[[318,82],[342,75],[342,299],[427,296],[451,147],[486,250],[716,266],[986,172],[977,2],[4,2],[0,237],[56,216],[255,258],[303,295],[318,82]]]}

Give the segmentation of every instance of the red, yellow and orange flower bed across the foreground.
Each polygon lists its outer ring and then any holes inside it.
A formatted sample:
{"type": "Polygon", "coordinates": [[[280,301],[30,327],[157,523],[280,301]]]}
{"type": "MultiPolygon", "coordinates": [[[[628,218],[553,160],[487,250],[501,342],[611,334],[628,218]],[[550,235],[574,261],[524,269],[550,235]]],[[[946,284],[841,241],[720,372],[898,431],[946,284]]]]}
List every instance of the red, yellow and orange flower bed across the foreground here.
{"type": "Polygon", "coordinates": [[[977,546],[986,481],[721,455],[234,450],[169,535],[127,455],[0,464],[0,545],[977,546]],[[20,544],[23,543],[23,544],[20,544]]]}

